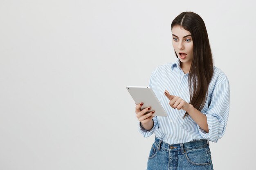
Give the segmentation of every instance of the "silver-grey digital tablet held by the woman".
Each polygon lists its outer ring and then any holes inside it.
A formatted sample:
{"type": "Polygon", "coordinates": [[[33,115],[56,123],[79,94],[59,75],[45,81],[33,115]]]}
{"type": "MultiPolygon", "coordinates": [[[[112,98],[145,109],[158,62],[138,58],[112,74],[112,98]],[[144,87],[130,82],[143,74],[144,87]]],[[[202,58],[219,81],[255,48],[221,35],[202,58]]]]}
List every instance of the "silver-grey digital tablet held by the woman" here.
{"type": "Polygon", "coordinates": [[[144,86],[126,86],[126,89],[132,96],[132,99],[135,101],[136,105],[141,102],[144,103],[141,107],[141,110],[150,107],[151,109],[146,113],[154,110],[155,113],[153,116],[167,116],[166,111],[157,99],[157,96],[155,95],[152,88],[144,86]]]}

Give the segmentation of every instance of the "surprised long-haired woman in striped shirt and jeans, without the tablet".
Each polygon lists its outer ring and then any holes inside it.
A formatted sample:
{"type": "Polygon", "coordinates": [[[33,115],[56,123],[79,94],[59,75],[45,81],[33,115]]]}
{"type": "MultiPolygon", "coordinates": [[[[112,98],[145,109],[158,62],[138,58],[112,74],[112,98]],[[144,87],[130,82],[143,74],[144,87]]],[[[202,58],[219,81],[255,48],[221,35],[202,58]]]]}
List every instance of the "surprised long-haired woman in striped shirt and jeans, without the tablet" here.
{"type": "Polygon", "coordinates": [[[155,68],[149,86],[168,114],[136,106],[139,132],[155,133],[147,170],[213,170],[209,141],[217,142],[229,115],[229,80],[213,66],[202,18],[182,12],[171,24],[177,60],[155,68]]]}

